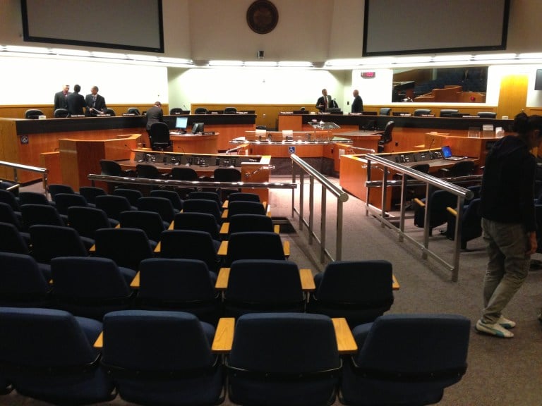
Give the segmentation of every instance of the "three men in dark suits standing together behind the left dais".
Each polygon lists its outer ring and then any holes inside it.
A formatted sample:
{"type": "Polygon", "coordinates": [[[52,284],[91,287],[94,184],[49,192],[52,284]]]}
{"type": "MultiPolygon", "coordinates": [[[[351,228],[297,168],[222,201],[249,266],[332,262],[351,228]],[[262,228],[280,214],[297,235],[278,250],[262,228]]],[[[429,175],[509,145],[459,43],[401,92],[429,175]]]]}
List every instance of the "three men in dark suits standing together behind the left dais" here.
{"type": "Polygon", "coordinates": [[[54,94],[54,110],[66,109],[71,116],[96,116],[104,113],[107,109],[105,98],[98,94],[98,90],[97,86],[92,86],[90,94],[83,97],[83,94],[79,94],[80,85],[75,85],[73,92],[70,92],[70,85],[64,85],[60,92],[54,94]]]}

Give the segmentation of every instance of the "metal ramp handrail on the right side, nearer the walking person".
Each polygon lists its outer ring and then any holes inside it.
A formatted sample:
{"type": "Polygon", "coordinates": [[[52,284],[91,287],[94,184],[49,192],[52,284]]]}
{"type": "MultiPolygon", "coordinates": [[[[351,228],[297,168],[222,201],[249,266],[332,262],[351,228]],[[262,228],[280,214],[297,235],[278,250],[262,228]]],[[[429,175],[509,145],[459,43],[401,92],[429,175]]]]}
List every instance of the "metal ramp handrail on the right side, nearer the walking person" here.
{"type": "Polygon", "coordinates": [[[461,223],[462,223],[462,210],[457,210],[457,216],[456,216],[456,223],[455,223],[455,231],[454,231],[454,250],[452,254],[452,262],[447,262],[446,259],[441,257],[437,252],[430,250],[429,248],[429,235],[430,235],[430,228],[429,228],[429,212],[430,212],[430,199],[428,199],[430,194],[430,186],[433,186],[435,188],[438,188],[440,190],[445,190],[446,192],[452,193],[452,195],[457,197],[457,207],[462,207],[465,199],[471,199],[474,196],[474,193],[469,190],[465,189],[464,187],[455,185],[454,183],[450,183],[447,180],[454,181],[454,182],[461,182],[466,180],[481,180],[481,176],[476,177],[457,177],[457,178],[435,178],[434,176],[430,176],[427,173],[423,173],[420,171],[416,171],[415,169],[409,168],[408,166],[404,166],[402,164],[398,164],[396,162],[390,161],[389,159],[385,159],[383,156],[378,156],[375,154],[366,154],[365,158],[367,159],[367,180],[366,183],[367,187],[367,197],[366,197],[366,215],[368,216],[370,211],[373,211],[372,214],[376,214],[376,218],[383,223],[383,226],[386,225],[390,227],[392,230],[396,230],[399,234],[399,241],[403,241],[404,238],[414,243],[414,245],[418,246],[418,248],[421,249],[422,252],[422,258],[427,259],[428,256],[432,257],[436,261],[438,261],[440,264],[447,266],[450,271],[452,272],[452,281],[457,282],[459,277],[459,254],[461,252],[461,223]],[[371,163],[378,163],[383,166],[383,180],[378,181],[377,183],[374,183],[371,180],[371,163]],[[378,183],[380,183],[380,187],[383,187],[382,192],[382,206],[385,208],[385,202],[387,198],[387,186],[389,185],[397,185],[395,180],[388,181],[387,176],[389,175],[390,171],[389,169],[393,169],[394,171],[397,171],[398,173],[402,173],[402,180],[401,182],[401,209],[399,214],[399,226],[397,226],[396,223],[392,223],[387,219],[387,214],[385,213],[384,209],[376,209],[375,207],[371,207],[369,204],[369,195],[371,193],[371,188],[374,186],[377,186],[378,183]],[[405,197],[404,192],[406,190],[406,185],[411,184],[411,180],[407,178],[413,178],[414,182],[418,181],[426,185],[426,210],[425,210],[425,219],[423,223],[423,242],[419,243],[418,241],[414,240],[414,238],[411,238],[409,235],[404,233],[404,219],[405,219],[405,197]],[[468,178],[468,179],[467,179],[468,178]]]}

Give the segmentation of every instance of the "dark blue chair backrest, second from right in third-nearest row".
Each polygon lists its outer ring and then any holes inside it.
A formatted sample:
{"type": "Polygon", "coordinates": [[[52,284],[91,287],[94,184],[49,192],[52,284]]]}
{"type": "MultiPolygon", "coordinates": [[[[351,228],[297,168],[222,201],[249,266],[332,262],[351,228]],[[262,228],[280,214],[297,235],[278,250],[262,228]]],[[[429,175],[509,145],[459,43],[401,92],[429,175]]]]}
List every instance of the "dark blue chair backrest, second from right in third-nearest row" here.
{"type": "Polygon", "coordinates": [[[198,230],[165,230],[160,236],[160,257],[200,259],[215,273],[220,264],[210,233],[198,230]]]}

